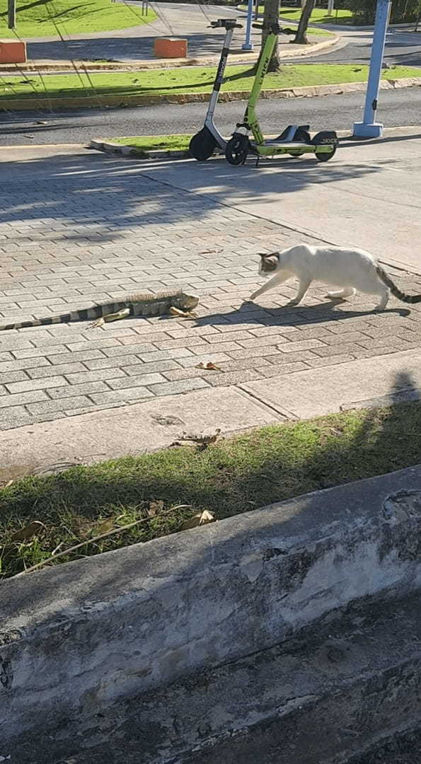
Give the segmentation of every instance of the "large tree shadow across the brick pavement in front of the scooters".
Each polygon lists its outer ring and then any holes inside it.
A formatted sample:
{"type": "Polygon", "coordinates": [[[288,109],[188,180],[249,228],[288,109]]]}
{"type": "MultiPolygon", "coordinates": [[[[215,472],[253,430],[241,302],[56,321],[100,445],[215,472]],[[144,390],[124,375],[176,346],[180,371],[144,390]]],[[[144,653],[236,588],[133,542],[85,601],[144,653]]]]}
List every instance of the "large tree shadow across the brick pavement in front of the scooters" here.
{"type": "MultiPolygon", "coordinates": [[[[31,151],[28,147],[30,158],[2,162],[0,224],[16,222],[18,228],[18,222],[33,221],[48,209],[50,219],[61,227],[66,225],[70,241],[83,241],[89,235],[95,235],[96,241],[121,238],[124,228],[138,228],[141,236],[147,224],[192,221],[197,223],[198,231],[206,225],[206,236],[207,231],[212,231],[209,215],[224,212],[221,202],[229,202],[233,190],[248,199],[279,198],[281,222],[283,194],[310,184],[337,183],[378,171],[373,165],[344,167],[335,160],[326,171],[313,155],[298,162],[292,158],[277,160],[279,175],[270,175],[256,172],[254,162],[231,167],[222,160],[183,160],[169,167],[165,162],[128,160],[83,150],[34,158],[31,151]],[[185,170],[189,173],[189,190],[176,185],[177,173],[181,181],[185,170]],[[205,184],[209,186],[206,191],[202,190],[205,184]],[[199,193],[195,193],[196,189],[199,193]],[[83,231],[77,230],[78,225],[84,226],[83,231]]],[[[247,217],[247,213],[237,214],[247,217]]],[[[53,223],[50,231],[53,240],[53,223]]],[[[18,240],[18,235],[11,235],[11,241],[18,240]]]]}

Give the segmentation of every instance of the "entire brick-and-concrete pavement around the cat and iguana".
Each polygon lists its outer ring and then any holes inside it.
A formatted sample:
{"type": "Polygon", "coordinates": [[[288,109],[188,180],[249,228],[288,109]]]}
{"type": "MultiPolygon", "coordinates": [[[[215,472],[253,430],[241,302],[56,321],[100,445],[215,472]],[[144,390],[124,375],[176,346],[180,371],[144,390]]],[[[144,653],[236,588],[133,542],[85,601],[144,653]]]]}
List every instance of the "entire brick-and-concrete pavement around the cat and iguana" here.
{"type": "Polygon", "coordinates": [[[316,284],[302,305],[286,309],[292,283],[244,303],[261,281],[256,253],[323,241],[325,215],[335,223],[329,241],[361,245],[370,234],[371,251],[400,261],[388,266],[396,283],[421,292],[419,141],[405,131],[395,137],[405,140],[341,147],[324,166],[278,160],[258,170],[224,160],[125,160],[71,146],[1,149],[0,324],[137,290],[180,287],[201,299],[195,322],[126,319],[105,329],[76,322],[2,333],[0,428],[8,432],[0,482],[57,461],[161,447],[183,431],[236,432],[417,397],[420,305],[392,299],[373,313],[370,297],[334,304],[316,284]],[[368,173],[384,185],[361,200],[368,173]],[[351,224],[344,212],[338,228],[338,210],[355,207],[350,241],[351,224]],[[403,225],[410,220],[413,235],[403,225]],[[382,241],[393,241],[393,257],[382,241]],[[220,371],[203,368],[209,361],[220,371]]]}

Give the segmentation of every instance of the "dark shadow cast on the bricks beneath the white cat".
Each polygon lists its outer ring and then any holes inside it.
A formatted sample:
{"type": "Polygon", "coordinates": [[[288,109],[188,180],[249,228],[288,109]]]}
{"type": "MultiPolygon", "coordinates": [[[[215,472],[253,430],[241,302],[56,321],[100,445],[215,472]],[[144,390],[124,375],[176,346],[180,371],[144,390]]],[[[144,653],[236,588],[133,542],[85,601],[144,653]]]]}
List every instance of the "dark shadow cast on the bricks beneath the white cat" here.
{"type": "Polygon", "coordinates": [[[287,303],[279,308],[267,308],[259,303],[252,303],[245,300],[238,308],[231,312],[216,312],[207,316],[196,318],[197,326],[217,325],[217,324],[261,324],[261,325],[305,325],[325,321],[343,321],[344,319],[358,319],[364,316],[388,316],[396,314],[397,316],[409,316],[410,309],[407,308],[386,308],[384,310],[344,310],[338,309],[338,306],[344,304],[341,299],[328,299],[316,306],[296,305],[287,303]],[[262,316],[264,311],[267,316],[262,316]],[[258,314],[258,315],[255,315],[258,314]]]}

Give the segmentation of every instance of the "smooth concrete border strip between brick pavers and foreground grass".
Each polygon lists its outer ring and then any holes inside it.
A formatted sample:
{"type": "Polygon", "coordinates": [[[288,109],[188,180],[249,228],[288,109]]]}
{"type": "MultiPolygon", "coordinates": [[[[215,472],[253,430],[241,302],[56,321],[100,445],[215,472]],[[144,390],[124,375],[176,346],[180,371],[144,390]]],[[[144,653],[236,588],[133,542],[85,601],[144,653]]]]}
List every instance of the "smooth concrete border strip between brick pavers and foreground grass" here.
{"type": "MultiPolygon", "coordinates": [[[[305,364],[295,364],[302,365],[303,371],[289,372],[280,366],[276,376],[255,382],[164,396],[44,422],[36,429],[34,425],[10,429],[2,433],[0,485],[11,477],[44,474],[51,465],[77,465],[167,448],[183,432],[214,432],[218,427],[223,435],[232,435],[287,419],[421,399],[421,347],[358,361],[344,362],[340,356],[325,360],[329,365],[319,369],[316,365],[306,371],[305,364]]],[[[274,367],[264,371],[273,372],[274,367]]]]}

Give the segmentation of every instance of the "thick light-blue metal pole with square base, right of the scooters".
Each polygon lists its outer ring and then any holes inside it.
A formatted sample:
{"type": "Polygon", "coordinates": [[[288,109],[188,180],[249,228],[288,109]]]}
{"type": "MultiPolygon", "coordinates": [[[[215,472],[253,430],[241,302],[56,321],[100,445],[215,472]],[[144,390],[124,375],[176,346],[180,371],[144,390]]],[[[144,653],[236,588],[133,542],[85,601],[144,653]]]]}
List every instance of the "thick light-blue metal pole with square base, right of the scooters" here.
{"type": "Polygon", "coordinates": [[[354,124],[355,138],[380,138],[383,135],[383,125],[376,122],[375,119],[389,12],[390,0],[377,0],[364,117],[362,122],[355,122],[354,124]]]}

